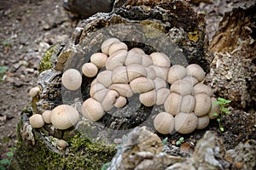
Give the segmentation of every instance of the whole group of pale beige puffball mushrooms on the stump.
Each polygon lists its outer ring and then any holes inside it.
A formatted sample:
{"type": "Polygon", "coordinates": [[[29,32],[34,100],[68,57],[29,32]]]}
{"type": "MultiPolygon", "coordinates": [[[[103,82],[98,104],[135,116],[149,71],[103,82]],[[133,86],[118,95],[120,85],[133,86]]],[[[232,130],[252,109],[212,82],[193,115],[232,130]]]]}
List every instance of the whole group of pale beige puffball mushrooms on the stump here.
{"type": "MultiPolygon", "coordinates": [[[[217,99],[212,97],[212,88],[202,82],[205,72],[200,65],[171,66],[166,54],[148,55],[141,48],[128,50],[117,38],[104,41],[102,53],[92,54],[82,72],[85,77],[96,77],[90,84],[90,98],[81,108],[82,115],[93,122],[113,107],[124,107],[133,94],[139,94],[139,101],[145,106],[164,105],[165,112],[154,117],[154,128],[163,134],[205,128],[219,113],[219,105],[213,105],[217,99]],[[99,72],[103,67],[106,70],[99,72]]],[[[68,69],[61,82],[68,90],[77,90],[82,76],[79,71],[68,69]]],[[[43,127],[44,122],[67,129],[79,122],[79,112],[70,105],[58,105],[52,111],[30,117],[32,127],[43,127]]]]}

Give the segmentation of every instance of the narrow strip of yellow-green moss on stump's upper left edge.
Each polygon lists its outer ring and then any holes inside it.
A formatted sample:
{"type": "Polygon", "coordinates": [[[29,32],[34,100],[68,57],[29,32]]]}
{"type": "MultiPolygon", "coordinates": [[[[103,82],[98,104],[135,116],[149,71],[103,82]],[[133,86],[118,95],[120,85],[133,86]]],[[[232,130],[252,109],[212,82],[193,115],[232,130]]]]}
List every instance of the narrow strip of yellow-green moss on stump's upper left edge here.
{"type": "Polygon", "coordinates": [[[43,72],[52,68],[51,56],[55,52],[56,48],[58,48],[59,46],[60,43],[55,43],[46,50],[46,52],[44,53],[44,57],[39,65],[39,72],[43,72]]]}

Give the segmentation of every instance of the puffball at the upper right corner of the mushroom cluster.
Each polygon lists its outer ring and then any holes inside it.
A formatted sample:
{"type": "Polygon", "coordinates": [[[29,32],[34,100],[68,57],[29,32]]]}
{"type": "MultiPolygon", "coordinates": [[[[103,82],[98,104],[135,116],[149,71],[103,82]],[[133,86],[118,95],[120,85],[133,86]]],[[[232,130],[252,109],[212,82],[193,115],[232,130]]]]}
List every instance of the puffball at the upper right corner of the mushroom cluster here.
{"type": "Polygon", "coordinates": [[[195,77],[199,82],[203,81],[205,78],[206,73],[200,65],[188,65],[186,70],[188,75],[195,77]]]}

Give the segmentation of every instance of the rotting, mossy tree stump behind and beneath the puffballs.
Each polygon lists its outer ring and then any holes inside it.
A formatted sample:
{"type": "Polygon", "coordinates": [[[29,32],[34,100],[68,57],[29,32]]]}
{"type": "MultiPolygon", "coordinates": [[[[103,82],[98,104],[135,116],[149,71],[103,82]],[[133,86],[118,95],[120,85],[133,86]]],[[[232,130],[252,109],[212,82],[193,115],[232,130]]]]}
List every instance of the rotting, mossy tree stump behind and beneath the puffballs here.
{"type": "Polygon", "coordinates": [[[42,89],[41,94],[32,99],[20,117],[17,128],[19,141],[10,169],[98,169],[115,153],[113,144],[108,143],[122,137],[102,130],[104,127],[125,131],[143,122],[144,125],[152,124],[145,121],[151,113],[154,116],[152,108],[135,103],[136,110],[132,110],[134,105],[131,105],[116,111],[114,114],[117,116],[107,114],[96,124],[82,119],[76,127],[67,130],[52,129],[49,124],[39,129],[32,129],[29,125],[28,117],[33,113],[41,114],[63,103],[79,110],[83,100],[89,97],[92,79],[83,78],[82,88],[71,93],[61,88],[61,73],[67,68],[80,70],[108,37],[118,37],[129,48],[143,48],[148,54],[163,52],[172,64],[197,63],[205,71],[209,70],[205,59],[205,23],[187,3],[120,0],[114,5],[113,12],[96,14],[84,20],[83,26],[73,32],[71,40],[49,49],[50,53],[42,61],[43,72],[36,83],[42,89]],[[45,71],[48,65],[51,67],[45,71]],[[122,114],[129,112],[134,114],[122,118],[122,114]],[[57,150],[56,139],[66,140],[69,144],[67,149],[57,150]]]}

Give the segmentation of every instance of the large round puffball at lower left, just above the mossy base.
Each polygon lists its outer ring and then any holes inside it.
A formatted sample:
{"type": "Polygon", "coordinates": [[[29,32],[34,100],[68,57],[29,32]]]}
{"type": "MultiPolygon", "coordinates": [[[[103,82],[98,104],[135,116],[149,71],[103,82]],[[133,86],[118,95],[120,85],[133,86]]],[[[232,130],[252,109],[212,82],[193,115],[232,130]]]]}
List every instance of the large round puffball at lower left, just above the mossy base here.
{"type": "Polygon", "coordinates": [[[50,114],[50,122],[58,129],[73,127],[79,122],[79,111],[71,105],[58,105],[50,114]]]}

